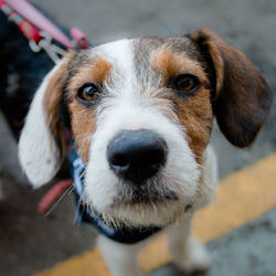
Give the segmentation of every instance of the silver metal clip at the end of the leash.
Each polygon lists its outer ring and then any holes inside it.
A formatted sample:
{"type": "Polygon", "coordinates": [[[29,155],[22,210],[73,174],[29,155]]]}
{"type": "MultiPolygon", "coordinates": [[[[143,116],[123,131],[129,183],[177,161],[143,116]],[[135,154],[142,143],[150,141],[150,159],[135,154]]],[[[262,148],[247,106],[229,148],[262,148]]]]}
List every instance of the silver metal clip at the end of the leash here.
{"type": "Polygon", "coordinates": [[[52,43],[52,36],[46,32],[40,32],[41,36],[43,38],[38,44],[34,41],[30,41],[29,45],[34,53],[40,52],[42,49],[46,52],[49,57],[57,64],[62,56],[64,55],[65,51],[60,46],[52,43]]]}

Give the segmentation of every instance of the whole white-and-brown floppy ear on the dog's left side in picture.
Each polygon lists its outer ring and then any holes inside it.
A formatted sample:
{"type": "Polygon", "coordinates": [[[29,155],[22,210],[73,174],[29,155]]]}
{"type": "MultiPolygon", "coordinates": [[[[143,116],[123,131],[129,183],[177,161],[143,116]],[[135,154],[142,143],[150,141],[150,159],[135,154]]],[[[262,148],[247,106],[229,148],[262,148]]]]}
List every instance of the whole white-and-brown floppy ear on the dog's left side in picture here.
{"type": "Polygon", "coordinates": [[[43,79],[19,139],[20,163],[35,188],[49,182],[61,167],[64,145],[61,100],[68,55],[43,79]]]}

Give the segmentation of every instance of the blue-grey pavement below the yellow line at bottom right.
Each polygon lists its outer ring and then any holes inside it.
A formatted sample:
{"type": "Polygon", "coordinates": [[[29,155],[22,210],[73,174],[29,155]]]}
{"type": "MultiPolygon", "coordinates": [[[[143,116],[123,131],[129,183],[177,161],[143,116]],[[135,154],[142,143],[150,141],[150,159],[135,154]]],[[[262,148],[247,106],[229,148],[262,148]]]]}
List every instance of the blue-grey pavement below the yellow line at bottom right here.
{"type": "MultiPolygon", "coordinates": [[[[212,256],[209,273],[194,276],[275,276],[276,209],[246,226],[208,244],[212,256]]],[[[173,265],[148,276],[183,276],[173,265]]]]}

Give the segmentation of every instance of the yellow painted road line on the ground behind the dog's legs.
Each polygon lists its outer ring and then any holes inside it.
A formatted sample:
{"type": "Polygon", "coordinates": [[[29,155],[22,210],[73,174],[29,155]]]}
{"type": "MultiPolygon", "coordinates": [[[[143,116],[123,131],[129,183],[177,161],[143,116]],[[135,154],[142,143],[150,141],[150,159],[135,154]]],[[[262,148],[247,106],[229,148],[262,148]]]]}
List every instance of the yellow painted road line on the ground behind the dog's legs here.
{"type": "MultiPolygon", "coordinates": [[[[276,205],[276,153],[221,181],[216,201],[197,213],[193,234],[213,241],[276,205]]],[[[166,236],[152,241],[139,257],[144,272],[170,262],[166,236]]],[[[97,247],[33,276],[110,276],[97,247]]]]}

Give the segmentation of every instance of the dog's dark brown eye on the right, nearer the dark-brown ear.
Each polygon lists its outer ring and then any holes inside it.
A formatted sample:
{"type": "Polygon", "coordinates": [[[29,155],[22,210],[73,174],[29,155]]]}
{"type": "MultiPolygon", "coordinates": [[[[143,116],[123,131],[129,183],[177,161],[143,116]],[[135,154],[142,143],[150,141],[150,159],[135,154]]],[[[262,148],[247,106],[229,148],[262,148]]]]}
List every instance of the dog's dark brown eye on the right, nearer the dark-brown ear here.
{"type": "Polygon", "coordinates": [[[198,88],[199,81],[194,75],[190,74],[179,75],[173,79],[172,86],[179,93],[191,94],[198,88]]]}

